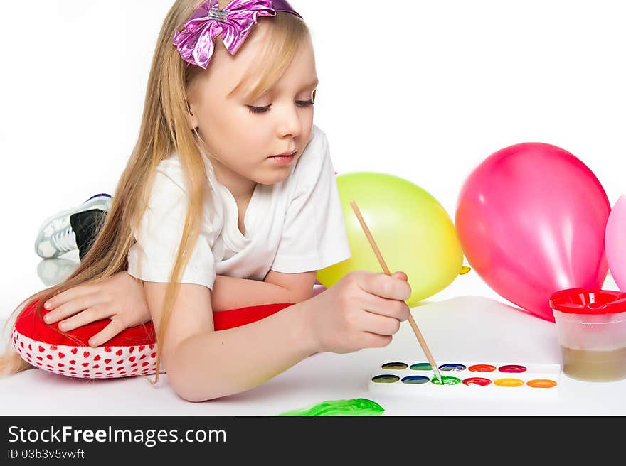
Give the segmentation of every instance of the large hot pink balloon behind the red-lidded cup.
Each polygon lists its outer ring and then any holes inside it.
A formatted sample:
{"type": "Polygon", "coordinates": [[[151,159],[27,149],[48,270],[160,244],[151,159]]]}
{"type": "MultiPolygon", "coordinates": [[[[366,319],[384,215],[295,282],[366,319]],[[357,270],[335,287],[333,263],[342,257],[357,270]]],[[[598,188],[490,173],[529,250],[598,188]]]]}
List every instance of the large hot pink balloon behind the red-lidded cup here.
{"type": "Polygon", "coordinates": [[[456,227],[467,261],[496,293],[554,322],[549,298],[601,288],[610,204],[568,151],[521,143],[497,151],[465,181],[456,227]]]}

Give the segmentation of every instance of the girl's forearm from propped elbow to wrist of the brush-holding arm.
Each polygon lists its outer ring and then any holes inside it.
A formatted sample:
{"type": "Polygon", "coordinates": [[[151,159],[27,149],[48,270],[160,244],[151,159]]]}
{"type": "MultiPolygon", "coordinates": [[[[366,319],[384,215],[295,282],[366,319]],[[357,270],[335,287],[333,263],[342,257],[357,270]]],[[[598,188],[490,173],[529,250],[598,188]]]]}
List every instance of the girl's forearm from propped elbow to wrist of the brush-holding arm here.
{"type": "Polygon", "coordinates": [[[304,324],[307,303],[258,322],[194,335],[172,352],[167,373],[176,392],[206,401],[253,389],[317,352],[304,324]]]}

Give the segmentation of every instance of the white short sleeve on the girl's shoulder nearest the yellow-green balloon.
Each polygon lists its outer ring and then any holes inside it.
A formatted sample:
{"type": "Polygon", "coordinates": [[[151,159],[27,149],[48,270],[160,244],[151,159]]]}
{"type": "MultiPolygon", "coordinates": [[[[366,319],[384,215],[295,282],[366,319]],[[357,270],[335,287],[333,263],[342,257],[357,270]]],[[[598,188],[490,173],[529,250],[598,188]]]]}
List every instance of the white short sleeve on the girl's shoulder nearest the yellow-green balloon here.
{"type": "Polygon", "coordinates": [[[277,272],[320,270],[351,255],[328,141],[317,127],[314,131],[292,173],[291,199],[271,267],[277,272]]]}

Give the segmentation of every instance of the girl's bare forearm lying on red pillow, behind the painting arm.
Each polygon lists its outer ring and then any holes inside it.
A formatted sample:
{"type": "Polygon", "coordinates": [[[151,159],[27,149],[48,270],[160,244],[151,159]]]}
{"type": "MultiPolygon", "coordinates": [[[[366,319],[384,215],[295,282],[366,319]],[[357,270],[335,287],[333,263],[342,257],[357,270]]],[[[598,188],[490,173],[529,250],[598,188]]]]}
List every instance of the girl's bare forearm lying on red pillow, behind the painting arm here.
{"type": "Polygon", "coordinates": [[[211,290],[214,311],[245,308],[269,303],[295,303],[296,298],[287,288],[265,281],[216,276],[211,290]]]}

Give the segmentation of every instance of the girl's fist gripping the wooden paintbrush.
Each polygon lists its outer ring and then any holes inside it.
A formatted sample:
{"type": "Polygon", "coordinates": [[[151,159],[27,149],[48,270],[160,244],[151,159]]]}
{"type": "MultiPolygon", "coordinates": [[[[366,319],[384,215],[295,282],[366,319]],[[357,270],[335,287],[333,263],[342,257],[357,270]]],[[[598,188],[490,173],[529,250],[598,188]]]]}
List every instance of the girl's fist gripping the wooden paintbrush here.
{"type": "Polygon", "coordinates": [[[403,272],[353,271],[311,298],[305,325],[319,352],[347,353],[384,347],[408,319],[411,289],[403,272]]]}

